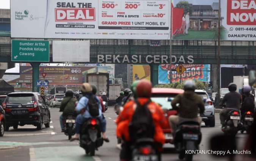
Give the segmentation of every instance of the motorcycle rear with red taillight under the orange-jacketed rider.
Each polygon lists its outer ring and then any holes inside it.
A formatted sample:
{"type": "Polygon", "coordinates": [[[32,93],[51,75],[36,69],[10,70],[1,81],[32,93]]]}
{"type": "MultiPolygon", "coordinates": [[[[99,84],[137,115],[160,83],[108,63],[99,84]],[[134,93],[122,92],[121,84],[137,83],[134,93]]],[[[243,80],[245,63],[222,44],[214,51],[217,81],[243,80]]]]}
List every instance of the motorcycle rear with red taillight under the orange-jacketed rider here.
{"type": "Polygon", "coordinates": [[[160,155],[154,147],[153,139],[138,139],[131,147],[133,149],[132,161],[160,161],[160,155]]]}

